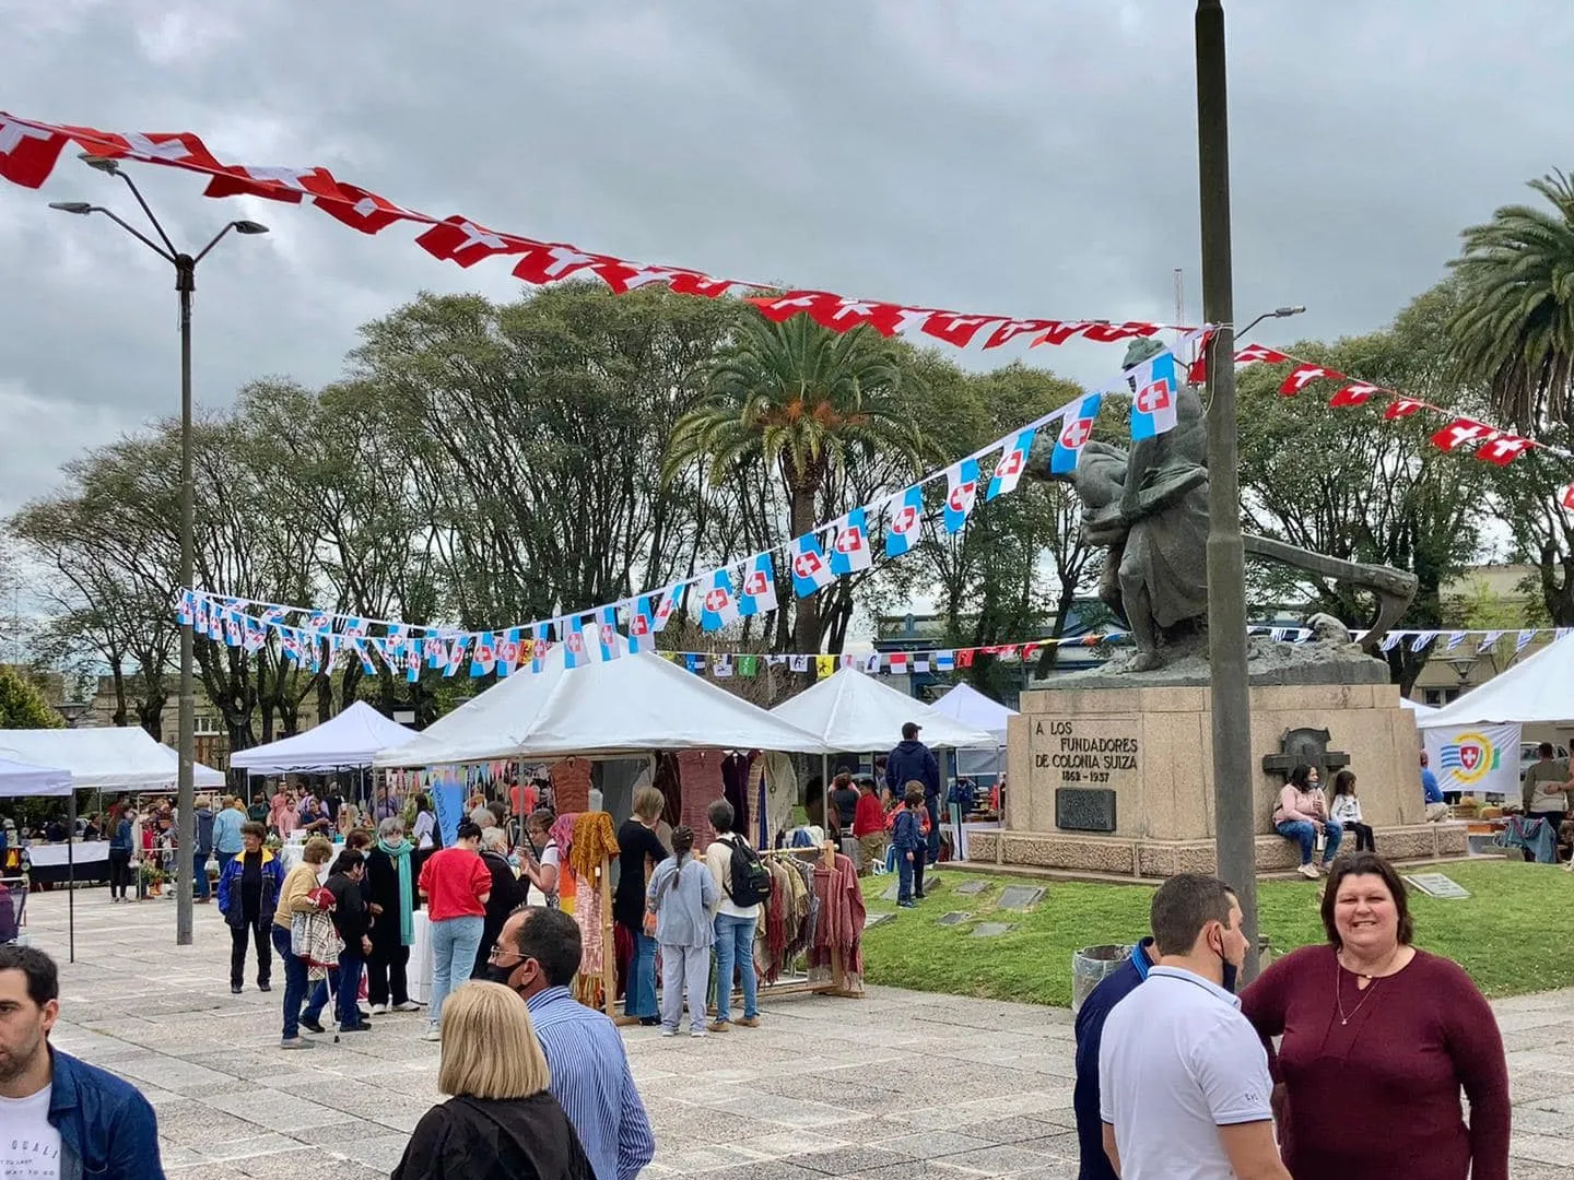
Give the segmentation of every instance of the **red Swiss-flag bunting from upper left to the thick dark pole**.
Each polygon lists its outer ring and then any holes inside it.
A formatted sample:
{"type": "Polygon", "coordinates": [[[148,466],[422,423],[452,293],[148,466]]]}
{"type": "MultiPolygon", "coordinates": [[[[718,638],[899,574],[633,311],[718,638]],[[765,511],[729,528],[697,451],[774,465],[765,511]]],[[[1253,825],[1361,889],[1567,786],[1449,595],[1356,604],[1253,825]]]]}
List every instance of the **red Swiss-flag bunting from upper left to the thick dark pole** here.
{"type": "Polygon", "coordinates": [[[773,283],[719,278],[682,266],[655,266],[608,253],[581,250],[567,242],[524,238],[490,230],[453,214],[433,217],[381,197],[357,184],[337,179],[327,168],[282,168],[252,164],[222,164],[192,132],[116,132],[44,123],[0,112],[0,178],[28,189],[39,187],[54,171],[60,154],[76,143],[91,156],[159,164],[208,176],[206,197],[261,197],[301,205],[309,201],[337,222],[365,234],[390,225],[411,225],[422,233],[416,245],[441,261],[469,267],[486,258],[513,258],[513,275],[526,283],[546,285],[563,278],[600,278],[615,294],[660,285],[677,294],[716,299],[732,293],[757,293],[748,302],[773,321],[807,315],[822,327],[847,332],[869,326],[883,335],[916,330],[933,340],[966,348],[982,335],[984,348],[999,348],[1029,337],[1033,346],[1061,345],[1072,338],[1119,341],[1152,337],[1176,324],[1108,319],[1017,319],[1003,315],[966,315],[932,307],[852,299],[829,291],[781,291],[773,283]]]}

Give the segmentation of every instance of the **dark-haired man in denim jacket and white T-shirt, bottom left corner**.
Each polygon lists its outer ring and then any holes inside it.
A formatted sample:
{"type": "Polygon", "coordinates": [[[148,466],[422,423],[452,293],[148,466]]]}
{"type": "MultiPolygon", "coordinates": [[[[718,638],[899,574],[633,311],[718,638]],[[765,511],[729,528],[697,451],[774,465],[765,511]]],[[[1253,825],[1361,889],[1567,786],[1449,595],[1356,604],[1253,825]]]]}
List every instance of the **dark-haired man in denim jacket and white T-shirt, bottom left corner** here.
{"type": "Polygon", "coordinates": [[[164,1180],[153,1108],[131,1082],[49,1046],[60,975],[0,946],[0,1164],[58,1180],[164,1180]]]}

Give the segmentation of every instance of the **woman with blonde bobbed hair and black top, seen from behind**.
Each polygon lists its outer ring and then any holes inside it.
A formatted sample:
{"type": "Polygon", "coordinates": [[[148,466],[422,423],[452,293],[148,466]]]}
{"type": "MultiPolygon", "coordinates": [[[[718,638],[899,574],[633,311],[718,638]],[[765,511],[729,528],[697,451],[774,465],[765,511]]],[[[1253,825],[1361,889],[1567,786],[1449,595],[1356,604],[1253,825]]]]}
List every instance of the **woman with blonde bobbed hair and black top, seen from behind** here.
{"type": "Polygon", "coordinates": [[[595,1180],[524,1001],[472,982],[442,1012],[438,1089],[452,1095],[416,1123],[392,1180],[595,1180]]]}

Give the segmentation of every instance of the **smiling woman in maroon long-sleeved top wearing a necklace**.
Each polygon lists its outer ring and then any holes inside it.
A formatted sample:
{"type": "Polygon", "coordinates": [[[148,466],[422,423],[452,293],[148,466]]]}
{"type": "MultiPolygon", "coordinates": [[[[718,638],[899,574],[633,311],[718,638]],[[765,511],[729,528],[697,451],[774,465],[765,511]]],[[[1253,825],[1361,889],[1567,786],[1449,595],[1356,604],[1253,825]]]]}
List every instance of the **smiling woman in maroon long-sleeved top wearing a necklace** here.
{"type": "Polygon", "coordinates": [[[1322,925],[1327,946],[1286,955],[1240,997],[1264,1040],[1283,1035],[1273,1076],[1291,1174],[1508,1180],[1497,1020],[1456,963],[1410,946],[1399,875],[1373,853],[1338,859],[1322,925]]]}

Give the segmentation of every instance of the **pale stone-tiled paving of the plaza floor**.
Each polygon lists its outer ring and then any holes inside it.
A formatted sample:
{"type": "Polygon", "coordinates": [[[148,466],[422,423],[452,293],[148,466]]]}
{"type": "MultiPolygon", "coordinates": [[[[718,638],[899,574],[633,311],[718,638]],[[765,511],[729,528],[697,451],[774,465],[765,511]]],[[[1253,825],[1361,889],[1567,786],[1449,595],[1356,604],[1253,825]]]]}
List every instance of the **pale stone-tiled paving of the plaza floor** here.
{"type": "MultiPolygon", "coordinates": [[[[419,1038],[416,1013],[342,1045],[275,1048],[282,972],[271,994],[249,979],[231,996],[214,906],[197,906],[195,946],[179,949],[173,902],[112,906],[82,891],[74,966],[65,895],[28,906],[33,942],[61,963],[55,1043],[142,1087],[172,1178],[386,1177],[439,1097],[439,1046],[419,1038]]],[[[1574,991],[1495,1007],[1514,1078],[1511,1172],[1574,1177],[1574,991]]],[[[626,1031],[660,1142],[645,1175],[1077,1175],[1067,1012],[872,988],[782,997],[763,1016],[699,1042],[626,1031]]]]}

